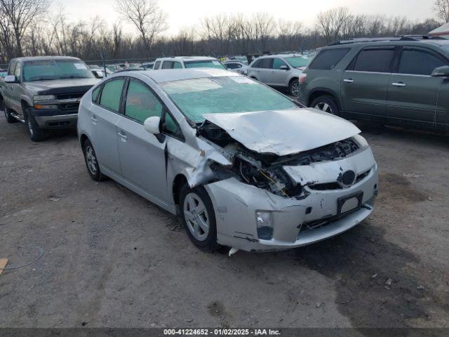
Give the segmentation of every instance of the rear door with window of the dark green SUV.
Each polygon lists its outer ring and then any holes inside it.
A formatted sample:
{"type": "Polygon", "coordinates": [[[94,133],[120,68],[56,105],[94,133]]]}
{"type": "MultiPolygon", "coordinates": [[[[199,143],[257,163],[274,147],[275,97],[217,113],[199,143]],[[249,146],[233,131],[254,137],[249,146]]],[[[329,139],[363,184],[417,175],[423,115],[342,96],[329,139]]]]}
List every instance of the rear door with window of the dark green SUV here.
{"type": "Polygon", "coordinates": [[[383,117],[393,67],[394,46],[363,48],[344,71],[343,110],[353,117],[383,117]]]}

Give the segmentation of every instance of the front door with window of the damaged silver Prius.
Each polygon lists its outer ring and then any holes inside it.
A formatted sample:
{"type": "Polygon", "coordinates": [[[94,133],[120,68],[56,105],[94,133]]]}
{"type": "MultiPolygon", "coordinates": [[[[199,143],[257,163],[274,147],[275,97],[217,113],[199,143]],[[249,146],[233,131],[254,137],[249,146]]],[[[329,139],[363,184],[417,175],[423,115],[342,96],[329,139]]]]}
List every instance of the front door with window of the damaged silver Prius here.
{"type": "Polygon", "coordinates": [[[130,79],[124,112],[119,118],[119,156],[123,178],[157,201],[166,201],[166,138],[148,133],[149,117],[163,116],[164,106],[154,92],[138,79],[130,79]]]}

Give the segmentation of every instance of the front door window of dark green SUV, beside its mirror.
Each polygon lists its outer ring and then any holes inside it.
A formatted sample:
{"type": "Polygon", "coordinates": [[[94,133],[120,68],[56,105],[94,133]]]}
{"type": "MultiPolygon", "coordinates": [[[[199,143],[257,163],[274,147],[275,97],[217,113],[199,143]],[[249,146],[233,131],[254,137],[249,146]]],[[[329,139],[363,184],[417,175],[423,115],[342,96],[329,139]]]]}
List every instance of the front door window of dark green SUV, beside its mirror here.
{"type": "Polygon", "coordinates": [[[431,75],[435,68],[443,67],[441,58],[424,51],[402,51],[399,74],[431,75]]]}

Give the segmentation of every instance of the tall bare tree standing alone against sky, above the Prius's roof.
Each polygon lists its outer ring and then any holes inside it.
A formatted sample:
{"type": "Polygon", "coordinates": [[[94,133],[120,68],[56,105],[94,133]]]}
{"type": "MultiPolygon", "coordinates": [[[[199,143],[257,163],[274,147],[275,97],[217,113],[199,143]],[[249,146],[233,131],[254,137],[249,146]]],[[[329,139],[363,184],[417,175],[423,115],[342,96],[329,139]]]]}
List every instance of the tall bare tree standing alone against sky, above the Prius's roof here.
{"type": "Polygon", "coordinates": [[[166,13],[161,11],[157,0],[116,0],[116,9],[138,29],[149,55],[154,39],[167,29],[166,13]]]}

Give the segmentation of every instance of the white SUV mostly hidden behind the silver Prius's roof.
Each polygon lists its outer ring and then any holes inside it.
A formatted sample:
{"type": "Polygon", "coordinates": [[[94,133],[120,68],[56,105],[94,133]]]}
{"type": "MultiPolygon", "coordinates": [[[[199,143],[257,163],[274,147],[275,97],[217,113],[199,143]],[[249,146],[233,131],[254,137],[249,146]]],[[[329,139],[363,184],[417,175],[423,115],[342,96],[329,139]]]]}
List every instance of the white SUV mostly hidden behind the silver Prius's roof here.
{"type": "Polygon", "coordinates": [[[154,62],[153,70],[183,69],[183,68],[218,68],[226,70],[226,67],[216,58],[208,56],[177,56],[174,58],[158,58],[154,62]]]}

